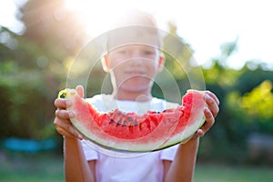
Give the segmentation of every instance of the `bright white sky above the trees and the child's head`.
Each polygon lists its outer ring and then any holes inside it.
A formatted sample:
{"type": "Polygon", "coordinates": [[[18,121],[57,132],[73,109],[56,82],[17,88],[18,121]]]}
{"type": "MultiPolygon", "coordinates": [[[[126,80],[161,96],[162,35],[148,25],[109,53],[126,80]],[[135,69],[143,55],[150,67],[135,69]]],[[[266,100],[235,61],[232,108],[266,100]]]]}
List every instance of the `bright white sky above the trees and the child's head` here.
{"type": "MultiPolygon", "coordinates": [[[[174,21],[178,35],[195,50],[199,64],[219,56],[221,44],[238,38],[238,51],[228,60],[229,66],[239,68],[245,61],[259,59],[273,69],[270,0],[100,0],[95,5],[90,5],[94,2],[90,0],[66,1],[68,9],[84,13],[86,31],[93,35],[106,32],[117,12],[134,7],[156,15],[164,30],[167,20],[174,21]]],[[[18,32],[24,26],[15,19],[15,2],[19,0],[0,0],[0,25],[18,32]]]]}

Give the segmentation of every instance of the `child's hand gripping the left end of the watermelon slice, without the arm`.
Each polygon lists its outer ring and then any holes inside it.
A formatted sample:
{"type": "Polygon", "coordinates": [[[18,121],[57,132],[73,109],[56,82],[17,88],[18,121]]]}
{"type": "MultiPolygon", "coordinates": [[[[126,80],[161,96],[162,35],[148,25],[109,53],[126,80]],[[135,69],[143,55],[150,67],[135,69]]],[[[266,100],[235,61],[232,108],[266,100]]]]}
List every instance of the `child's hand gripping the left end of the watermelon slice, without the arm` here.
{"type": "MultiPolygon", "coordinates": [[[[76,92],[84,97],[83,86],[76,86],[76,92]]],[[[65,98],[56,98],[54,105],[56,106],[54,125],[57,132],[64,137],[83,139],[83,136],[76,131],[70,121],[70,118],[73,118],[76,114],[72,110],[66,111],[67,106],[72,106],[71,101],[65,98]]]]}

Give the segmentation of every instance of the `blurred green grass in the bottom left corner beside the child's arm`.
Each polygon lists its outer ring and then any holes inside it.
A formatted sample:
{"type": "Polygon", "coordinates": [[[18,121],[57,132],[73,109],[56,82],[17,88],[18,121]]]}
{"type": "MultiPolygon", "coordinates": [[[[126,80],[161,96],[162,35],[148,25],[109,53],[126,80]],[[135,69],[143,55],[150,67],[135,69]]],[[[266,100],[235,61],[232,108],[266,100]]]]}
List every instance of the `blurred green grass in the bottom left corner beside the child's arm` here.
{"type": "Polygon", "coordinates": [[[0,181],[63,182],[62,157],[52,153],[26,154],[0,152],[0,181]]]}

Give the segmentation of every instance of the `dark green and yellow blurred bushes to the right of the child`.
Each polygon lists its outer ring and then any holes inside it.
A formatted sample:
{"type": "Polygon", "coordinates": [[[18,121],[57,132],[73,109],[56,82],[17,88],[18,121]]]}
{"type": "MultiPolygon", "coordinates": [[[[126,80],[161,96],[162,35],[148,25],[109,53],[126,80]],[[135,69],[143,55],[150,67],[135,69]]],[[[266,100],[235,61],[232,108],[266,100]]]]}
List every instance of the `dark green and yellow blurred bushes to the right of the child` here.
{"type": "MultiPolygon", "coordinates": [[[[227,45],[227,50],[234,49],[233,44],[229,44],[230,49],[227,45]]],[[[263,70],[258,64],[254,66],[255,62],[241,70],[227,68],[229,53],[223,52],[223,56],[212,60],[212,67],[203,71],[207,89],[220,100],[220,112],[215,126],[201,140],[199,157],[243,163],[249,157],[249,135],[273,133],[273,72],[263,70]],[[226,57],[224,61],[223,57],[226,57]]]]}

